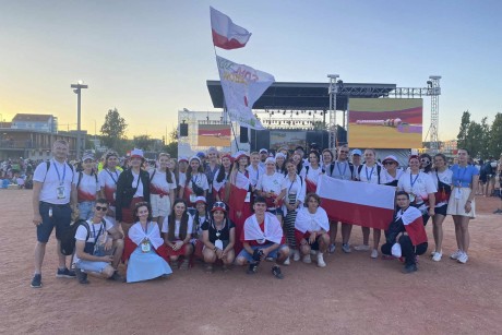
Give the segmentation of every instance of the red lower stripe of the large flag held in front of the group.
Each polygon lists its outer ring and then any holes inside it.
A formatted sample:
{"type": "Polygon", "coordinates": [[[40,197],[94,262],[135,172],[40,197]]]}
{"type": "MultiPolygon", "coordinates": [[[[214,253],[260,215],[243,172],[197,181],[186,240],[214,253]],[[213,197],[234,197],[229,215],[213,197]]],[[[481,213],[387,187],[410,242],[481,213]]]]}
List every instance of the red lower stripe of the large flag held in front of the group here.
{"type": "Polygon", "coordinates": [[[331,199],[322,199],[321,207],[331,220],[362,227],[387,229],[394,215],[393,210],[360,205],[331,199]]]}

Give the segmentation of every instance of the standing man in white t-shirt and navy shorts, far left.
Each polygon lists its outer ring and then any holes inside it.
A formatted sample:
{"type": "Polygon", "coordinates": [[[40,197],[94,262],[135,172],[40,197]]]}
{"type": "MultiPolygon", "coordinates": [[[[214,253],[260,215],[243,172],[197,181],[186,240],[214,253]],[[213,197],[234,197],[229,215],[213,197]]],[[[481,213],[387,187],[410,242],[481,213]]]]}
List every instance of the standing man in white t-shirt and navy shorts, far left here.
{"type": "Polygon", "coordinates": [[[56,227],[58,240],[59,266],[57,277],[74,278],[75,273],[68,270],[67,256],[60,251],[61,236],[70,229],[72,207],[70,200],[74,196],[75,186],[72,184],[73,167],[67,163],[69,144],[64,140],[56,140],[52,144],[53,158],[41,163],[35,169],[33,177],[33,224],[37,228],[35,246],[35,275],[32,287],[41,287],[41,263],[46,253],[46,244],[56,227]]]}

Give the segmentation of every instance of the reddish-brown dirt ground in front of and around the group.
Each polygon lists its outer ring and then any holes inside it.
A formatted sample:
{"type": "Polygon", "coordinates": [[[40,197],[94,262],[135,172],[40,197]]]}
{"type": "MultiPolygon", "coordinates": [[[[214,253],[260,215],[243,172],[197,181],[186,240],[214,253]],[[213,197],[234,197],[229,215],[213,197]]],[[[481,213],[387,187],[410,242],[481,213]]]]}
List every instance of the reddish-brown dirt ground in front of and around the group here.
{"type": "MultiPolygon", "coordinates": [[[[31,191],[0,190],[0,333],[9,334],[501,334],[502,215],[500,200],[477,199],[469,262],[455,251],[453,222],[444,223],[445,258],[421,256],[419,271],[401,273],[398,261],[344,254],[337,243],[327,266],[294,263],[275,279],[270,263],[254,276],[243,268],[205,274],[199,264],[165,279],[119,284],[56,278],[52,236],[33,289],[31,191]]],[[[427,227],[429,254],[433,247],[427,227]]],[[[339,235],[338,235],[339,239],[339,235]]],[[[361,242],[355,227],[351,243],[361,242]]]]}

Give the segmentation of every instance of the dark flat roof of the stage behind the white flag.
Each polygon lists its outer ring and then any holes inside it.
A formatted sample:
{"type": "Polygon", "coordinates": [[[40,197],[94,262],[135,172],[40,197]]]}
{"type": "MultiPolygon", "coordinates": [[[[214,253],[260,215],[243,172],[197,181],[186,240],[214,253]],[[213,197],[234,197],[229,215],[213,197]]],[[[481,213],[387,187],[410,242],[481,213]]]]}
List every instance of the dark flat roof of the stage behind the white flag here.
{"type": "MultiPolygon", "coordinates": [[[[254,104],[253,109],[309,109],[328,110],[330,83],[275,82],[254,104]]],[[[336,109],[346,110],[348,98],[378,98],[395,89],[395,84],[343,83],[336,95],[336,109]]],[[[207,81],[214,108],[223,108],[223,89],[219,81],[207,81]]]]}

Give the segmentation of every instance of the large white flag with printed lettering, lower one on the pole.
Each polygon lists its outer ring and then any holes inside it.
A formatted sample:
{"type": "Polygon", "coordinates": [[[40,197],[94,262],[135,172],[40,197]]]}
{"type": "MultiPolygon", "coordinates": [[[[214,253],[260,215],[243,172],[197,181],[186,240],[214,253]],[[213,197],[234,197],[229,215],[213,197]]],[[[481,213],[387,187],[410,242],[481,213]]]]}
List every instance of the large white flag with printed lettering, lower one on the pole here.
{"type": "Polygon", "coordinates": [[[219,56],[216,56],[216,62],[230,120],[242,127],[264,129],[254,117],[252,107],[275,81],[274,76],[219,56]]]}

